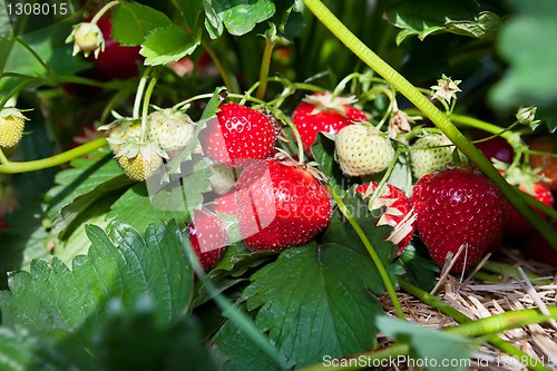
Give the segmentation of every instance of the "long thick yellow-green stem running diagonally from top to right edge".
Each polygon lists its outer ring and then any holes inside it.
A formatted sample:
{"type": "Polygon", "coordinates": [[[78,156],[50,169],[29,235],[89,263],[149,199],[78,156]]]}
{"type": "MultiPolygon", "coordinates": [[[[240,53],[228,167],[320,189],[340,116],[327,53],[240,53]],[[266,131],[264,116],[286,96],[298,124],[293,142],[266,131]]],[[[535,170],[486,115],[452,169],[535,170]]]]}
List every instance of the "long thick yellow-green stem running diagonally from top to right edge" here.
{"type": "Polygon", "coordinates": [[[370,68],[382,76],[398,91],[404,95],[420,109],[443,134],[465,154],[476,166],[499,187],[507,201],[557,250],[557,233],[540,215],[538,215],[522,197],[517,197],[517,191],[509,185],[490,160],[473,146],[457,127],[450,121],[447,114],[440,111],[424,97],[410,81],[383,61],[358,37],[355,37],[320,0],[304,0],[305,6],[321,22],[343,42],[354,55],[370,68]]]}

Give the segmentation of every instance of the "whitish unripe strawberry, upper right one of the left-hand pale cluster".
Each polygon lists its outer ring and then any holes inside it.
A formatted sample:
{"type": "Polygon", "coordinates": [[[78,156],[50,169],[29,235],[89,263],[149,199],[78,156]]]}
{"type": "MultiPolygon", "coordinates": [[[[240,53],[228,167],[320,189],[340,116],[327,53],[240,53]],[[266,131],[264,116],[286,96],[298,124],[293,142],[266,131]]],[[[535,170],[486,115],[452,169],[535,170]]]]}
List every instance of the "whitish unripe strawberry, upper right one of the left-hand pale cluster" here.
{"type": "Polygon", "coordinates": [[[147,120],[149,138],[165,152],[184,148],[194,135],[194,121],[182,110],[156,110],[147,120]]]}

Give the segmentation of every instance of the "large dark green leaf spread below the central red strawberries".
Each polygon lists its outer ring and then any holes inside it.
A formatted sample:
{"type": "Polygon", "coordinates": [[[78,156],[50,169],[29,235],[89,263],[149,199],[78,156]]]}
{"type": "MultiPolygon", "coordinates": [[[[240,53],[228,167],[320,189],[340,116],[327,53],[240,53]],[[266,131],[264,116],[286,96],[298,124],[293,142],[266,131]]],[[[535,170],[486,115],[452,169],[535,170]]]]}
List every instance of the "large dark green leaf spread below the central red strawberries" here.
{"type": "Polygon", "coordinates": [[[257,309],[256,325],[296,367],[374,346],[381,307],[370,287],[381,279],[354,250],[333,243],[292,247],[252,281],[242,295],[246,307],[257,309]]]}

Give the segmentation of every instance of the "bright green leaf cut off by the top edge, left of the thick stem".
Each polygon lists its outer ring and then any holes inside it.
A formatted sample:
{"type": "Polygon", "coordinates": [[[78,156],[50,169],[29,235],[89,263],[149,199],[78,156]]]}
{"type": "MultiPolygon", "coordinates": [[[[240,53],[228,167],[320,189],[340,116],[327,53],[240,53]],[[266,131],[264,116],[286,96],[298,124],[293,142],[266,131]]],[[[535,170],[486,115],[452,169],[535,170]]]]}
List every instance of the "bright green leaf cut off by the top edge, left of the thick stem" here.
{"type": "Polygon", "coordinates": [[[271,0],[204,0],[205,27],[215,39],[223,33],[223,25],[234,36],[243,36],[255,26],[273,17],[271,0]]]}

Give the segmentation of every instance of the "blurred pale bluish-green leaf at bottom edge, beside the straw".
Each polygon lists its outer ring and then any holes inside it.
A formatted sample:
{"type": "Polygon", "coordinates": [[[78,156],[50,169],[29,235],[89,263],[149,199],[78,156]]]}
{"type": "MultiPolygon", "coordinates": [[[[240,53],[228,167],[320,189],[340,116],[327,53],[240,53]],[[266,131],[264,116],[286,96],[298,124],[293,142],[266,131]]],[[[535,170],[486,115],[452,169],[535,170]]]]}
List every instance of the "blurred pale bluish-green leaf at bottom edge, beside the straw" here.
{"type": "Polygon", "coordinates": [[[429,360],[426,370],[468,370],[467,360],[472,355],[470,339],[422,328],[408,321],[387,315],[377,319],[380,331],[397,342],[408,343],[411,355],[429,360]]]}

